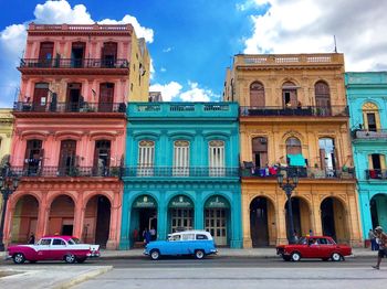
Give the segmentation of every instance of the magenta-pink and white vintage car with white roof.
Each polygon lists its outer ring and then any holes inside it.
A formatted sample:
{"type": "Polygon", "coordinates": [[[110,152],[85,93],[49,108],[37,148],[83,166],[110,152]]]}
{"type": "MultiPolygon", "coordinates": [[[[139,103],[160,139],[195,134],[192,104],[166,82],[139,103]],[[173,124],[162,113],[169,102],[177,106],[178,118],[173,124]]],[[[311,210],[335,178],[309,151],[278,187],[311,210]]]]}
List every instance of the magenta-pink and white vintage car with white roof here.
{"type": "Polygon", "coordinates": [[[45,236],[33,245],[17,245],[8,248],[8,259],[15,264],[25,260],[65,260],[66,263],[84,263],[87,257],[98,257],[100,245],[82,244],[72,236],[45,236]]]}

